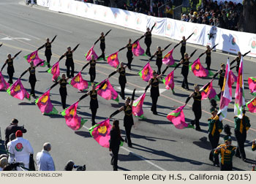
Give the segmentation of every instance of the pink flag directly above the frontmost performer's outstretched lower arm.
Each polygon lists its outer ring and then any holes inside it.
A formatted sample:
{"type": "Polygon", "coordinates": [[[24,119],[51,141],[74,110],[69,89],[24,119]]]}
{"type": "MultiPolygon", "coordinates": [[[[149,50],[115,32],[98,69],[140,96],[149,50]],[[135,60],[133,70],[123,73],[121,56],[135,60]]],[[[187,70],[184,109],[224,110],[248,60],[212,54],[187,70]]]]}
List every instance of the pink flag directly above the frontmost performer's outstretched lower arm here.
{"type": "MultiPolygon", "coordinates": [[[[98,89],[102,83],[104,83],[105,80],[103,80],[99,85],[97,85],[96,89],[98,89]]],[[[105,83],[102,89],[98,91],[98,95],[102,96],[103,99],[110,100],[113,99],[115,101],[119,101],[118,93],[114,90],[113,86],[110,84],[109,80],[105,83]]]]}

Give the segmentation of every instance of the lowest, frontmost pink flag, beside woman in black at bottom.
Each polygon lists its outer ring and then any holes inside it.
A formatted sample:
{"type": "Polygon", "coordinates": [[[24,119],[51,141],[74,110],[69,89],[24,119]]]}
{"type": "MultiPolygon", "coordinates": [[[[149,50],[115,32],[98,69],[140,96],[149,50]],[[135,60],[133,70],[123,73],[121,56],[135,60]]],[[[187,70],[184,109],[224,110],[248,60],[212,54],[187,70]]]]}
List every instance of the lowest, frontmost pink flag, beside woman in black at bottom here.
{"type": "Polygon", "coordinates": [[[110,120],[108,118],[107,120],[103,120],[102,122],[92,126],[89,131],[91,137],[93,137],[99,145],[102,147],[109,147],[111,128],[112,126],[110,125],[110,120]]]}

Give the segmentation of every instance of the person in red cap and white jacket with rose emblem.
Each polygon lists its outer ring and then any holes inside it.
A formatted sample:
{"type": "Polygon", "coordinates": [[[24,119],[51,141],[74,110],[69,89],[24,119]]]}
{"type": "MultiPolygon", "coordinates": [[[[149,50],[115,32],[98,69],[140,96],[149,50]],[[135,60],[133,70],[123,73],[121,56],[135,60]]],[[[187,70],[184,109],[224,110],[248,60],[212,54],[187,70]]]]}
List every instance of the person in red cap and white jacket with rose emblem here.
{"type": "MultiPolygon", "coordinates": [[[[15,159],[16,162],[22,162],[26,168],[29,168],[30,154],[34,154],[33,147],[31,147],[29,140],[23,139],[22,131],[16,131],[15,135],[16,139],[10,142],[8,149],[10,152],[8,162],[11,164],[15,159]]],[[[18,170],[21,169],[18,168],[18,170]]]]}

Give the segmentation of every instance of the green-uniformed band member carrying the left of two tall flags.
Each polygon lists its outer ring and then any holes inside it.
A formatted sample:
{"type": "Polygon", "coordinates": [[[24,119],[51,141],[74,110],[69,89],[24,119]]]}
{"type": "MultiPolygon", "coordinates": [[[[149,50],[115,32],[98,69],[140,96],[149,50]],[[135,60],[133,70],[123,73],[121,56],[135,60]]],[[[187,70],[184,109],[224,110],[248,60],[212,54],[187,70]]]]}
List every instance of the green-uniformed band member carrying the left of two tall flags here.
{"type": "Polygon", "coordinates": [[[214,163],[214,166],[219,166],[218,156],[214,156],[214,149],[219,145],[219,134],[222,132],[222,121],[219,120],[217,115],[218,110],[211,110],[211,118],[208,119],[208,138],[211,143],[211,152],[209,155],[210,161],[214,163]]]}

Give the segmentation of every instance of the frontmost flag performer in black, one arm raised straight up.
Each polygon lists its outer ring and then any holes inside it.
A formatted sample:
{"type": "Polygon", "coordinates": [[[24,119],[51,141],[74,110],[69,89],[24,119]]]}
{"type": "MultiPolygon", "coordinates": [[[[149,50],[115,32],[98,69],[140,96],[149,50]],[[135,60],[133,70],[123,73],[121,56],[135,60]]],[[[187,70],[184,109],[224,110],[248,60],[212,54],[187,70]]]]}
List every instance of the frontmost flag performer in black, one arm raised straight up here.
{"type": "Polygon", "coordinates": [[[134,125],[133,118],[132,118],[132,104],[135,99],[135,91],[136,89],[133,90],[132,100],[129,97],[127,97],[125,101],[125,105],[110,115],[110,118],[112,118],[114,115],[117,115],[119,112],[124,111],[124,128],[125,128],[125,134],[126,134],[125,142],[127,142],[128,147],[132,147],[130,134],[131,134],[132,126],[134,125]]]}

